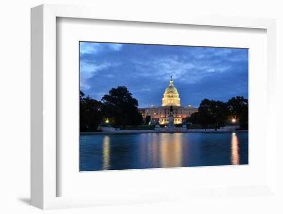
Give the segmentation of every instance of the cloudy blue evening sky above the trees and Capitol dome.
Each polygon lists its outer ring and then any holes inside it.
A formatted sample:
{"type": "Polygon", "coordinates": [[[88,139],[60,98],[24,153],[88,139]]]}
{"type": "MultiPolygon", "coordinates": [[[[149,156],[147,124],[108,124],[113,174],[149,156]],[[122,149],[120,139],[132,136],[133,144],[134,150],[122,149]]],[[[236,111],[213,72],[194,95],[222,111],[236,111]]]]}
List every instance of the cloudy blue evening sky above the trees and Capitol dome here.
{"type": "Polygon", "coordinates": [[[80,42],[80,90],[94,99],[126,86],[139,107],[160,106],[171,75],[183,106],[248,98],[248,50],[80,42]]]}

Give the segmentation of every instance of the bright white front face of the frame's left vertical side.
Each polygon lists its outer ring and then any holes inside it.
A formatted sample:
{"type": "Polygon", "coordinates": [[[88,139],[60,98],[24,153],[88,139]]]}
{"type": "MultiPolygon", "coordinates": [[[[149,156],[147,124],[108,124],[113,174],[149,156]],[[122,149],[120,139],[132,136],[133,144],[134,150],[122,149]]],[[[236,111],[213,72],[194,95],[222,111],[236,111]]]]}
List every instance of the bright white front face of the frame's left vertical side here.
{"type": "Polygon", "coordinates": [[[56,201],[56,13],[43,5],[43,209],[56,201]]]}

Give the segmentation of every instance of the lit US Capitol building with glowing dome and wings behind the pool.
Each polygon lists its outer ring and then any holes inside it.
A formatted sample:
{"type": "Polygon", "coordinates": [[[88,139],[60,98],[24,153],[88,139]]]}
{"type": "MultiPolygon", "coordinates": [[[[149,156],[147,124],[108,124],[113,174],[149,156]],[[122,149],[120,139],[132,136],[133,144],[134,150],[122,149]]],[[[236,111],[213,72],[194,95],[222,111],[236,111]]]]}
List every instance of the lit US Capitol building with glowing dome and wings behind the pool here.
{"type": "Polygon", "coordinates": [[[182,123],[186,117],[190,117],[191,114],[198,112],[198,108],[193,108],[191,105],[181,106],[181,100],[177,88],[173,85],[172,76],[169,82],[169,86],[165,89],[162,106],[155,107],[151,105],[149,108],[139,108],[139,113],[146,120],[146,116],[150,116],[150,124],[168,124],[170,115],[170,106],[173,106],[173,121],[174,124],[182,123]]]}

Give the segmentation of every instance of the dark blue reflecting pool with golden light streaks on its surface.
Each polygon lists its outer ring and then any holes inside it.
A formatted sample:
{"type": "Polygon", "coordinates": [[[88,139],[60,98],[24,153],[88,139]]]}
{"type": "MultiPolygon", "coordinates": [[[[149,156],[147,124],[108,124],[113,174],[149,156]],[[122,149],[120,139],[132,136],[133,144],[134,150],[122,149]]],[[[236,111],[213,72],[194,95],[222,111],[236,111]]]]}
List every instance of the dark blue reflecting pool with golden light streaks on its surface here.
{"type": "Polygon", "coordinates": [[[80,136],[80,171],[248,164],[248,133],[80,136]]]}

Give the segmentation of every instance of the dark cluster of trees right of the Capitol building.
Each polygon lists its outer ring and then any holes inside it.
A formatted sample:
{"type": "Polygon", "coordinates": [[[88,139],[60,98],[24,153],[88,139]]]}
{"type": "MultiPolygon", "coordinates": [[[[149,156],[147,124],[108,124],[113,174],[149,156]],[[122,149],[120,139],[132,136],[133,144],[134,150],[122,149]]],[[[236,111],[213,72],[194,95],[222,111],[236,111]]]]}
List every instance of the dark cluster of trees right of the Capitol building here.
{"type": "Polygon", "coordinates": [[[201,124],[203,129],[208,125],[217,129],[235,119],[241,129],[248,129],[248,109],[247,99],[240,96],[233,97],[227,102],[204,99],[200,103],[199,111],[186,118],[186,121],[201,124]]]}

